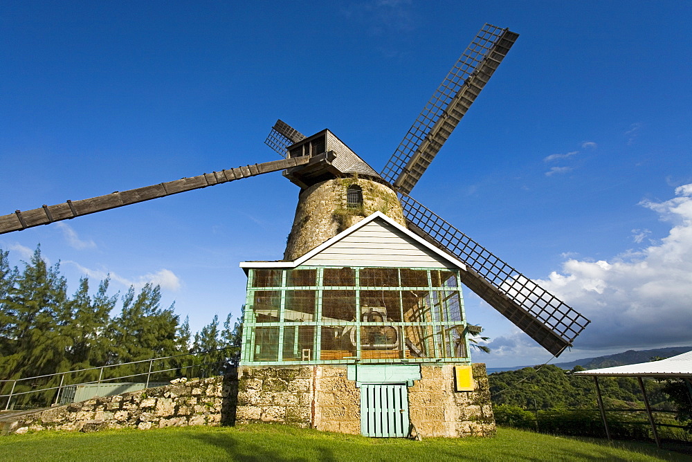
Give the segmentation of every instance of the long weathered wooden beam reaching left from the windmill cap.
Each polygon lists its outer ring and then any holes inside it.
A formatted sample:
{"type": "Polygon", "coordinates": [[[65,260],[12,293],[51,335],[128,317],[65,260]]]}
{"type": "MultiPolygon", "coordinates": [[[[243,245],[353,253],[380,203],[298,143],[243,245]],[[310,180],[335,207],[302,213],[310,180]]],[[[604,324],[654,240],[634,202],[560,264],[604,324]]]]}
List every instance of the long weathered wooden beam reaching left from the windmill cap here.
{"type": "Polygon", "coordinates": [[[298,165],[305,165],[310,156],[292,157],[281,160],[272,160],[261,164],[246,165],[235,169],[221,170],[211,174],[201,174],[192,178],[168,181],[134,190],[113,192],[104,196],[82,199],[80,201],[67,201],[57,205],[43,205],[41,208],[0,216],[0,234],[6,232],[26,230],[38,225],[48,225],[54,221],[73,219],[75,216],[88,215],[102,212],[123,205],[130,205],[151,199],[170,196],[180,192],[197,190],[202,187],[220,185],[229,181],[248,178],[270,172],[277,172],[298,165]]]}

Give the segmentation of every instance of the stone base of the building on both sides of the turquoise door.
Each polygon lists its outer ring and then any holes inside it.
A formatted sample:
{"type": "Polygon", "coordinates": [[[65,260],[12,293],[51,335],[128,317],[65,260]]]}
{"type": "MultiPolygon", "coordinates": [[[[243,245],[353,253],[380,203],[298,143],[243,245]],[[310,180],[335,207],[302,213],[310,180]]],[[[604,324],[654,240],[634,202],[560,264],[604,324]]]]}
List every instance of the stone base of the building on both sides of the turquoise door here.
{"type": "MultiPolygon", "coordinates": [[[[495,420],[485,364],[473,364],[475,391],[454,391],[453,365],[422,365],[408,387],[410,421],[417,434],[493,436],[495,420]]],[[[238,423],[273,422],[325,432],[361,433],[361,390],[346,366],[242,367],[238,423]]]]}

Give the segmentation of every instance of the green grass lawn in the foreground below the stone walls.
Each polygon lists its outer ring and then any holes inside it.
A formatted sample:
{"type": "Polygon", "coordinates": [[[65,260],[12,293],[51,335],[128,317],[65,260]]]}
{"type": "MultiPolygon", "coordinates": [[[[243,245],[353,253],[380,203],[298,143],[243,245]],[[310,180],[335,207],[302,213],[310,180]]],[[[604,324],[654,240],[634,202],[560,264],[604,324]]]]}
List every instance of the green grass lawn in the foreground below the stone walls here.
{"type": "Polygon", "coordinates": [[[3,461],[692,461],[653,443],[500,428],[495,438],[365,438],[282,425],[0,436],[3,461]]]}

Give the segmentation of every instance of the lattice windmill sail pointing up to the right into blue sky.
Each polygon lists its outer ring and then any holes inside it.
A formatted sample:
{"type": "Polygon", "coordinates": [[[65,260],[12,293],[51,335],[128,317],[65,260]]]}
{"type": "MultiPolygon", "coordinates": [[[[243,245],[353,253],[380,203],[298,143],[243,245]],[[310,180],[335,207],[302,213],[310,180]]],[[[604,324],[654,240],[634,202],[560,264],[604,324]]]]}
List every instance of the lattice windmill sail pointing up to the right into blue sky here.
{"type": "Polygon", "coordinates": [[[381,172],[408,194],[519,35],[485,24],[439,85],[381,172]]]}

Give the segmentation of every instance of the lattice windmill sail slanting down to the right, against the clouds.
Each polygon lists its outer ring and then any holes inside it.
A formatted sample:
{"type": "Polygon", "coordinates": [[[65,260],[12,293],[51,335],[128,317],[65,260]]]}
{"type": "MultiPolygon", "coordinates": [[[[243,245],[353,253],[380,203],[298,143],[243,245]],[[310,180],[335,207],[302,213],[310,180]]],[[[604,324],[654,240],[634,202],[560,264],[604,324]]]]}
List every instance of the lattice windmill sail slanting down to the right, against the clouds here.
{"type": "Polygon", "coordinates": [[[412,230],[463,261],[462,282],[538,344],[559,355],[590,323],[531,279],[406,194],[399,194],[412,230]]]}

